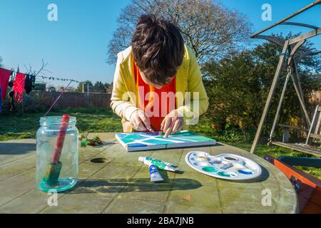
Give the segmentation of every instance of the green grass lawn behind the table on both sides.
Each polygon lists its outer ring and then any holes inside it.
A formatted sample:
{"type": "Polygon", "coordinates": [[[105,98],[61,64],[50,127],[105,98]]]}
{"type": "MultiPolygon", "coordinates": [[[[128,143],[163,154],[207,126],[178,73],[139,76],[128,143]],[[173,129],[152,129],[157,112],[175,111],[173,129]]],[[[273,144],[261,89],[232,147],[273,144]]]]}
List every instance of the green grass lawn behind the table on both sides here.
{"type": "MultiPolygon", "coordinates": [[[[80,133],[88,132],[121,132],[121,120],[117,115],[113,114],[111,110],[103,109],[64,109],[53,110],[50,115],[63,115],[68,113],[76,117],[76,126],[80,133]]],[[[0,115],[0,142],[6,140],[16,140],[21,138],[35,138],[36,130],[39,128],[39,119],[44,113],[25,113],[22,115],[0,115]]],[[[206,135],[210,138],[239,147],[243,150],[250,151],[250,142],[242,142],[240,140],[228,140],[223,136],[213,134],[210,124],[206,120],[201,120],[198,125],[192,126],[190,130],[206,135]]],[[[313,157],[301,152],[293,152],[292,150],[285,149],[277,146],[258,145],[255,154],[263,157],[266,154],[273,157],[281,155],[290,155],[298,157],[313,157]]],[[[321,169],[312,167],[298,167],[310,175],[314,175],[321,179],[321,169]]]]}

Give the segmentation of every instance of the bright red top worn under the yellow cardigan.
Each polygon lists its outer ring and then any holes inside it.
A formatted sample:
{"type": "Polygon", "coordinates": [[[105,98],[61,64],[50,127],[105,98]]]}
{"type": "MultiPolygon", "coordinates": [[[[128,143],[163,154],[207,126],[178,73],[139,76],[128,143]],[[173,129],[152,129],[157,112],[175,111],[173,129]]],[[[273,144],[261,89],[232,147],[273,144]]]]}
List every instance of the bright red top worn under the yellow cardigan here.
{"type": "Polygon", "coordinates": [[[175,110],[176,77],[161,89],[146,84],[141,78],[136,63],[134,63],[136,86],[138,89],[138,104],[151,120],[151,127],[161,131],[161,123],[168,113],[175,110]]]}

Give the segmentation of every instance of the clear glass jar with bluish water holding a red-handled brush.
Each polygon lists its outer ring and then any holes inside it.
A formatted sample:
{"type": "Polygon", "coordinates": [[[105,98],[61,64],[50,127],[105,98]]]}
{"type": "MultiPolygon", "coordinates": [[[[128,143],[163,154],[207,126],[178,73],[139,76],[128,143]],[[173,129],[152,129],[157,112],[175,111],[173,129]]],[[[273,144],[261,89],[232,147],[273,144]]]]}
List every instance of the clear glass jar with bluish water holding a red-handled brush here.
{"type": "Polygon", "coordinates": [[[44,192],[69,190],[77,182],[79,133],[76,118],[66,116],[69,120],[65,115],[40,118],[36,133],[36,185],[44,192]]]}

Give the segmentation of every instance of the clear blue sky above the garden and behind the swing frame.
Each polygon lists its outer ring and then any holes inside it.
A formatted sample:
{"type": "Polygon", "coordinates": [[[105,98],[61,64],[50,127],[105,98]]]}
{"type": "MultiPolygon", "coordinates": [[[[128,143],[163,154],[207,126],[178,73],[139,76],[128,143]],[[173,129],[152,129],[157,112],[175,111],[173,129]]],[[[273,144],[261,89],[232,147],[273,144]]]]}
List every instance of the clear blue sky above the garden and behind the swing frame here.
{"type": "MultiPolygon", "coordinates": [[[[248,16],[253,31],[258,31],[292,14],[312,0],[223,0],[223,5],[248,16]],[[272,21],[263,21],[263,4],[272,6],[272,21]]],[[[116,19],[129,0],[0,0],[0,56],[6,68],[21,71],[29,63],[41,66],[41,59],[49,63],[47,76],[72,78],[78,81],[113,81],[114,66],[106,63],[107,46],[116,19]],[[58,21],[48,21],[47,6],[58,6],[58,21]]],[[[297,16],[292,21],[321,26],[321,6],[297,16]]],[[[292,27],[291,27],[292,28],[292,27]]],[[[272,32],[287,33],[289,26],[272,32]]],[[[307,32],[308,29],[292,29],[307,32]]],[[[321,49],[321,37],[312,39],[321,49]]],[[[47,81],[55,86],[64,83],[47,81]]],[[[66,82],[65,82],[66,83],[66,82]]],[[[76,85],[73,85],[76,86],[76,85]]]]}

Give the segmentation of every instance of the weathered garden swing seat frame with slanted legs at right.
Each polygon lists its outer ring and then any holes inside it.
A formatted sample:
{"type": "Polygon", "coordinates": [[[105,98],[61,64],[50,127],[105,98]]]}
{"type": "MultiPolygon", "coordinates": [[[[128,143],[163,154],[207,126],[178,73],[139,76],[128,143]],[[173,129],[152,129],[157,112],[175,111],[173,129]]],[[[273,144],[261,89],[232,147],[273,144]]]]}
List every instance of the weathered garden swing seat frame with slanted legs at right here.
{"type": "MultiPolygon", "coordinates": [[[[275,114],[275,119],[272,125],[272,129],[270,132],[270,138],[269,138],[269,142],[272,144],[276,144],[272,142],[272,138],[275,132],[275,127],[277,125],[277,120],[279,118],[279,114],[280,114],[280,110],[282,108],[282,102],[283,99],[285,97],[285,91],[287,88],[287,84],[290,81],[293,83],[293,86],[295,87],[295,92],[297,94],[297,98],[300,102],[300,109],[302,111],[302,118],[304,121],[304,124],[306,126],[306,129],[310,128],[311,125],[311,121],[310,121],[310,117],[307,113],[307,108],[305,105],[305,99],[304,99],[304,95],[302,93],[302,88],[301,88],[301,84],[300,84],[300,75],[297,71],[297,63],[300,63],[300,61],[302,60],[302,58],[305,58],[307,56],[314,56],[317,54],[321,53],[320,51],[315,51],[315,52],[311,52],[309,51],[307,48],[304,48],[302,45],[305,43],[305,41],[309,38],[312,38],[314,36],[318,36],[321,34],[321,28],[317,27],[317,26],[312,26],[310,24],[302,24],[302,23],[296,23],[296,22],[290,22],[288,20],[292,19],[293,17],[297,16],[298,14],[302,14],[302,12],[307,11],[308,9],[311,9],[314,6],[319,5],[321,7],[321,0],[317,0],[312,2],[311,4],[305,6],[304,8],[300,9],[299,11],[295,12],[294,14],[291,14],[290,16],[287,16],[285,19],[282,19],[280,21],[277,21],[275,24],[272,24],[271,26],[268,26],[267,28],[264,28],[261,31],[258,31],[257,33],[254,33],[251,38],[261,38],[261,39],[265,39],[267,41],[270,41],[272,43],[277,44],[278,46],[282,46],[282,54],[280,56],[279,59],[279,63],[277,64],[277,69],[275,72],[275,76],[273,78],[272,81],[272,85],[270,88],[270,92],[267,95],[267,100],[265,103],[265,107],[263,110],[263,114],[261,116],[260,119],[260,123],[258,125],[258,130],[255,134],[255,138],[253,140],[253,145],[251,147],[250,152],[253,153],[255,152],[255,149],[258,145],[258,140],[260,139],[260,135],[262,133],[263,130],[263,124],[265,122],[265,118],[267,117],[267,113],[270,109],[270,104],[272,102],[272,98],[273,95],[275,94],[275,88],[277,86],[277,82],[278,79],[280,77],[280,73],[286,68],[287,69],[287,78],[285,79],[285,84],[283,86],[282,89],[282,93],[281,93],[281,97],[280,97],[280,101],[279,101],[279,105],[277,107],[277,113],[275,114]],[[301,27],[305,27],[305,28],[312,28],[312,31],[305,33],[303,35],[297,36],[295,38],[291,38],[291,39],[282,39],[279,37],[275,37],[275,36],[263,36],[261,35],[262,33],[264,33],[265,31],[270,30],[271,28],[274,28],[275,26],[279,26],[279,25],[290,25],[290,26],[301,26],[301,27]],[[298,58],[295,58],[295,54],[297,53],[297,51],[299,51],[302,53],[298,58]],[[285,57],[287,56],[287,63],[285,66],[285,57]],[[292,69],[294,70],[292,73],[292,69]]],[[[287,126],[290,127],[290,126],[287,126]]],[[[285,145],[280,145],[283,147],[286,147],[285,145]]],[[[294,149],[294,148],[292,148],[294,149]]],[[[304,151],[306,152],[306,151],[304,151]]],[[[311,153],[314,154],[314,152],[307,152],[307,153],[311,153]]],[[[321,155],[321,153],[319,154],[318,152],[316,152],[316,154],[318,154],[318,156],[321,155]]],[[[316,155],[314,154],[314,155],[316,155]]]]}

